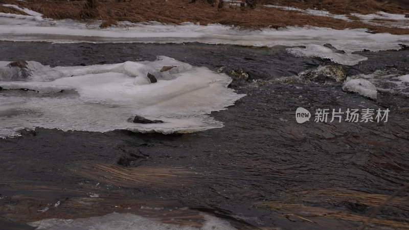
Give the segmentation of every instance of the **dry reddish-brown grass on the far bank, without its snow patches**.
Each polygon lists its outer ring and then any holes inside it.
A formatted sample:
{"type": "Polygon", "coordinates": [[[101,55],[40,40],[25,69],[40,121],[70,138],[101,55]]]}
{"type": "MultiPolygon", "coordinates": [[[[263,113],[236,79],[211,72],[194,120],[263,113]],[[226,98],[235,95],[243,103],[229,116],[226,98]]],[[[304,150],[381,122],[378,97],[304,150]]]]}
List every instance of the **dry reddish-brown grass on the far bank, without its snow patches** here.
{"type": "MultiPolygon", "coordinates": [[[[209,4],[197,1],[190,4],[190,0],[152,0],[152,1],[132,1],[121,2],[113,0],[99,1],[97,8],[86,9],[86,1],[57,1],[57,0],[31,0],[21,2],[17,0],[3,0],[4,3],[15,4],[20,7],[29,8],[31,10],[40,12],[44,17],[54,19],[71,18],[76,20],[102,20],[101,27],[108,27],[116,25],[118,21],[131,22],[146,22],[146,21],[160,21],[166,24],[180,24],[181,22],[190,21],[193,23],[200,23],[201,25],[208,24],[222,24],[234,25],[240,28],[260,29],[265,27],[282,28],[287,26],[316,26],[329,27],[334,29],[357,29],[368,28],[371,33],[392,33],[392,34],[409,34],[409,29],[391,28],[387,26],[374,26],[365,24],[359,20],[345,21],[335,19],[333,17],[313,16],[302,14],[298,11],[286,11],[276,8],[267,8],[259,4],[255,10],[245,9],[240,10],[239,7],[224,7],[218,9],[209,4]]],[[[283,5],[287,1],[270,1],[283,5]]],[[[309,4],[304,4],[304,7],[299,5],[300,1],[290,1],[294,6],[300,8],[307,8],[312,6],[313,1],[306,1],[309,4]],[[297,4],[296,4],[297,3],[297,4]]],[[[324,1],[326,3],[328,1],[324,1]]],[[[340,5],[347,4],[347,8],[343,7],[341,12],[360,12],[363,13],[365,9],[367,13],[383,9],[388,12],[401,13],[402,8],[396,5],[382,5],[373,0],[366,1],[346,1],[336,0],[330,1],[329,4],[334,9],[342,8],[340,5]],[[357,4],[360,4],[359,7],[357,4]],[[367,5],[373,5],[372,8],[367,5]],[[345,10],[344,10],[345,8],[345,10]],[[355,9],[355,10],[353,10],[355,9]],[[362,10],[358,10],[362,9],[362,10]],[[372,9],[372,10],[370,10],[372,9]]],[[[228,2],[226,2],[228,5],[228,2]]],[[[324,5],[323,5],[324,6],[324,5]]],[[[327,6],[327,5],[325,5],[327,6]]]]}

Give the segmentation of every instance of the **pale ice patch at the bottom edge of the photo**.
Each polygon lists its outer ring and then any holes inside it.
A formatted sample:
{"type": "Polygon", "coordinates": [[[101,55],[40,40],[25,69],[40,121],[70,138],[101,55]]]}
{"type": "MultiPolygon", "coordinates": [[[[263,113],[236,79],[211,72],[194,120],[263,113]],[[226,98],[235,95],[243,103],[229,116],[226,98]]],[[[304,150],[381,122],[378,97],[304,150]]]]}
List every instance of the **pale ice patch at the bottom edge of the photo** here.
{"type": "MultiPolygon", "coordinates": [[[[210,216],[201,214],[205,218],[205,222],[200,229],[203,230],[230,230],[236,229],[229,222],[210,216]]],[[[90,230],[90,229],[118,229],[118,230],[139,230],[139,229],[184,229],[197,230],[196,227],[179,226],[175,224],[161,223],[145,217],[133,215],[130,213],[111,213],[101,217],[90,217],[82,219],[44,219],[29,223],[29,225],[37,227],[36,229],[50,230],[90,230]]]]}

